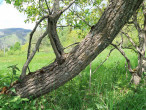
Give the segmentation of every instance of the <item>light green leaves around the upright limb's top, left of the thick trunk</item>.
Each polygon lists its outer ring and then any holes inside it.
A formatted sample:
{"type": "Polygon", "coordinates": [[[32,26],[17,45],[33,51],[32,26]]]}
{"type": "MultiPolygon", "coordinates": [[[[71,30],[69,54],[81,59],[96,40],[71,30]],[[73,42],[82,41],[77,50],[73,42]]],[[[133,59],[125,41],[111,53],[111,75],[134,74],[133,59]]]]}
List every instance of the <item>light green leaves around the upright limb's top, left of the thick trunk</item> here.
{"type": "MultiPolygon", "coordinates": [[[[46,1],[51,9],[53,7],[53,0],[46,1]]],[[[25,22],[35,22],[48,14],[47,5],[44,0],[41,2],[39,0],[6,0],[6,2],[13,4],[20,12],[24,12],[27,15],[25,22]]],[[[60,4],[60,9],[62,9],[69,5],[69,1],[60,0],[60,4]]],[[[66,11],[61,16],[58,24],[67,24],[83,30],[89,29],[90,27],[87,23],[90,26],[94,25],[95,22],[99,20],[106,4],[107,2],[103,2],[103,0],[76,0],[69,11],[66,11]],[[99,14],[97,14],[97,12],[99,14]],[[85,23],[83,19],[87,23],[85,23]]],[[[46,24],[46,21],[43,21],[43,24],[46,24]]]]}

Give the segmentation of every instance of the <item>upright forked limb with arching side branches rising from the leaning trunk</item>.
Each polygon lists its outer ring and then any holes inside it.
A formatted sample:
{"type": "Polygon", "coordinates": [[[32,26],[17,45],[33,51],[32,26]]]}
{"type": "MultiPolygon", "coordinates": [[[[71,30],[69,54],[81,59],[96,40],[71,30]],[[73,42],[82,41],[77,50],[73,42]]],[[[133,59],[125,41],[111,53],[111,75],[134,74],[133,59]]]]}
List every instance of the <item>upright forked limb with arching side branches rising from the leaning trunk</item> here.
{"type": "MultiPolygon", "coordinates": [[[[75,0],[73,0],[72,2],[70,2],[70,4],[63,8],[62,10],[59,10],[59,0],[54,0],[54,4],[53,4],[53,8],[52,11],[49,12],[48,15],[43,16],[35,25],[34,29],[32,30],[32,32],[30,33],[30,38],[29,38],[29,46],[28,46],[28,54],[27,54],[27,61],[25,62],[25,64],[23,65],[22,68],[22,73],[20,76],[20,79],[22,80],[25,76],[26,76],[26,70],[28,68],[29,63],[31,62],[31,60],[33,59],[36,51],[39,49],[39,45],[42,41],[42,39],[48,34],[51,44],[52,44],[52,48],[54,50],[54,53],[56,55],[56,61],[58,64],[62,64],[64,62],[64,55],[63,55],[63,46],[60,43],[58,34],[57,34],[57,30],[56,30],[56,24],[58,19],[60,18],[61,14],[63,12],[65,12],[73,3],[75,2],[75,0]],[[30,53],[30,49],[31,49],[31,40],[33,37],[34,32],[36,31],[37,27],[39,26],[39,24],[44,20],[48,18],[48,25],[47,25],[47,29],[46,31],[43,33],[43,36],[40,36],[40,38],[37,41],[36,47],[34,48],[33,52],[30,53]],[[38,44],[39,43],[39,44],[38,44]]],[[[40,2],[39,2],[40,3],[40,2]]],[[[48,7],[48,4],[46,2],[46,5],[48,7]]],[[[50,11],[49,7],[48,10],[50,11]]],[[[29,68],[28,68],[29,69],[29,68]]],[[[29,70],[30,72],[30,70],[29,70]]]]}

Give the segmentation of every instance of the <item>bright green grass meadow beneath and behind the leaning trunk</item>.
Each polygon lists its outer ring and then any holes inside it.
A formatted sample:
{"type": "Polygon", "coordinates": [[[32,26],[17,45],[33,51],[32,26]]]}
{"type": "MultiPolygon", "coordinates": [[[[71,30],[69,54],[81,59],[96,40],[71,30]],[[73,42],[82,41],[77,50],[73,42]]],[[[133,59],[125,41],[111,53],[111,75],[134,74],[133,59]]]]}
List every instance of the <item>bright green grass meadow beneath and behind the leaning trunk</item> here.
{"type": "MultiPolygon", "coordinates": [[[[137,65],[137,55],[125,50],[132,67],[137,65]]],[[[92,71],[106,58],[109,50],[104,50],[93,62],[92,71]]],[[[37,53],[30,64],[35,71],[48,65],[54,59],[53,53],[37,53]]],[[[10,82],[4,77],[11,74],[7,67],[18,64],[21,69],[26,55],[0,57],[0,86],[10,82]],[[9,73],[9,74],[8,74],[9,73]]],[[[0,96],[0,110],[144,110],[146,109],[144,80],[138,87],[129,85],[131,75],[125,70],[125,59],[114,51],[109,59],[92,74],[89,88],[89,66],[73,80],[57,90],[38,99],[28,101],[19,97],[0,96]]],[[[18,74],[20,74],[18,72],[18,74]]]]}

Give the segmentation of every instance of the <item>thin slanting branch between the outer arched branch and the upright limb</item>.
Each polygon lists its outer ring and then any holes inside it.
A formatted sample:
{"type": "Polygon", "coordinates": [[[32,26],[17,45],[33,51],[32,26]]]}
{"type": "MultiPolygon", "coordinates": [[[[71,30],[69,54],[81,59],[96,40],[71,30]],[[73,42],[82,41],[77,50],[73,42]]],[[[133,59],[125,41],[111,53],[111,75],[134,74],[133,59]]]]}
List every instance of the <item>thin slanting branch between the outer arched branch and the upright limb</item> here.
{"type": "Polygon", "coordinates": [[[27,67],[28,67],[29,63],[31,62],[31,60],[33,59],[33,57],[34,57],[36,51],[39,49],[39,46],[40,46],[40,44],[41,44],[42,39],[43,39],[47,34],[48,34],[48,32],[47,32],[47,29],[46,29],[46,31],[43,33],[43,35],[39,37],[39,39],[38,39],[38,41],[37,41],[37,43],[36,43],[36,45],[35,45],[35,48],[34,48],[32,54],[29,55],[29,57],[27,58],[27,61],[25,62],[24,66],[23,66],[23,68],[22,68],[22,73],[21,73],[20,79],[23,79],[23,78],[26,76],[27,67]]]}

